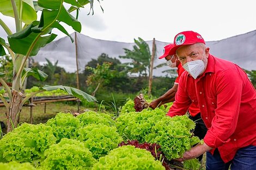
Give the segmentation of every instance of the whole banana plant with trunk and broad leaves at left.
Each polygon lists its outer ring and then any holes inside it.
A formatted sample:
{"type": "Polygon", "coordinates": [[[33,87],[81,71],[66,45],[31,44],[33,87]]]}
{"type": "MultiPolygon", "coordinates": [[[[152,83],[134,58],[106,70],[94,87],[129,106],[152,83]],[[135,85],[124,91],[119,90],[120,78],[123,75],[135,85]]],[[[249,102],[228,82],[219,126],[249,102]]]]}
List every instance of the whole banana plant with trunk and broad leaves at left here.
{"type": "MultiPolygon", "coordinates": [[[[99,2],[99,0],[97,0],[99,2]]],[[[22,106],[36,93],[62,89],[78,98],[87,99],[89,102],[96,101],[96,98],[87,93],[67,86],[47,86],[41,87],[39,91],[29,96],[24,96],[22,86],[28,76],[33,76],[38,80],[44,81],[47,74],[26,66],[29,57],[36,55],[41,47],[50,43],[56,38],[52,29],[59,29],[68,35],[73,42],[70,34],[62,26],[68,24],[76,32],[81,32],[81,23],[77,20],[78,11],[84,5],[90,5],[90,12],[93,12],[93,0],[1,0],[0,12],[5,16],[14,18],[16,31],[11,29],[0,18],[0,26],[7,33],[7,39],[0,37],[0,55],[9,55],[14,64],[13,82],[9,87],[3,80],[4,73],[0,73],[0,83],[8,94],[8,99],[0,95],[0,99],[7,109],[7,131],[13,130],[19,123],[22,106]],[[64,5],[65,4],[65,5],[64,5]],[[66,9],[65,7],[70,7],[66,9]],[[77,11],[76,18],[72,16],[72,11],[77,11]],[[40,12],[39,12],[40,11],[40,12]],[[38,21],[38,14],[40,20],[38,21]],[[5,52],[8,52],[6,54],[5,52]]],[[[101,7],[101,6],[100,6],[101,7]]],[[[102,9],[102,8],[101,8],[102,9]]],[[[103,9],[102,9],[103,11],[103,9]]],[[[90,14],[89,12],[89,14],[90,14]]]]}

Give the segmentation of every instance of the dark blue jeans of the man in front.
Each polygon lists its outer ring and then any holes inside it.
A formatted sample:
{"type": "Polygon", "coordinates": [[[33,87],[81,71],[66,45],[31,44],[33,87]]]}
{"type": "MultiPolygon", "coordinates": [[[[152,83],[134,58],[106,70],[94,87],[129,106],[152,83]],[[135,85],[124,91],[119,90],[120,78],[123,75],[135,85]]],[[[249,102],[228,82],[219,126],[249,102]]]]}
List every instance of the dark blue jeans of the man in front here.
{"type": "Polygon", "coordinates": [[[255,170],[256,169],[256,146],[247,146],[237,150],[233,160],[224,163],[218,149],[214,155],[206,153],[206,170],[255,170]]]}

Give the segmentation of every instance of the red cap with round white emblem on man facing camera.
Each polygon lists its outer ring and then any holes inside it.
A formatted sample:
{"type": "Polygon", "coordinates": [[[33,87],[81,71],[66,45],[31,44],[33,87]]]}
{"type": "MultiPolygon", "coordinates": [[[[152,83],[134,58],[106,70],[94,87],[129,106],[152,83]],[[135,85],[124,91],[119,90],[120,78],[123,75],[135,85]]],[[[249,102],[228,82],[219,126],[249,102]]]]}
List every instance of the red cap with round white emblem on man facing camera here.
{"type": "Polygon", "coordinates": [[[176,50],[184,45],[192,45],[194,43],[204,43],[203,37],[192,31],[181,32],[174,37],[174,47],[170,49],[169,55],[176,54],[176,50]]]}

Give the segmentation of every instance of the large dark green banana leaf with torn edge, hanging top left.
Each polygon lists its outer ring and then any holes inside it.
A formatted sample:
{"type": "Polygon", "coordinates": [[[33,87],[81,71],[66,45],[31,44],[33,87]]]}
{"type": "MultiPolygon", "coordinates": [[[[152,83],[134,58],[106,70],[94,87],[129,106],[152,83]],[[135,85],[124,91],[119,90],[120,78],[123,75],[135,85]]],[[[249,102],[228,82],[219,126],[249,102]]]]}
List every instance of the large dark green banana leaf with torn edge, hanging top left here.
{"type": "MultiPolygon", "coordinates": [[[[69,0],[69,2],[75,3],[76,1],[69,0]]],[[[17,54],[36,55],[41,47],[44,47],[47,43],[53,41],[57,36],[51,34],[52,28],[59,29],[64,34],[68,35],[73,42],[74,40],[70,34],[61,24],[59,24],[59,22],[64,22],[77,32],[81,32],[81,23],[66,11],[62,0],[38,0],[38,5],[39,7],[44,8],[42,10],[40,22],[34,21],[21,32],[8,36],[10,48],[17,54]],[[50,35],[41,36],[45,34],[50,35]]]]}

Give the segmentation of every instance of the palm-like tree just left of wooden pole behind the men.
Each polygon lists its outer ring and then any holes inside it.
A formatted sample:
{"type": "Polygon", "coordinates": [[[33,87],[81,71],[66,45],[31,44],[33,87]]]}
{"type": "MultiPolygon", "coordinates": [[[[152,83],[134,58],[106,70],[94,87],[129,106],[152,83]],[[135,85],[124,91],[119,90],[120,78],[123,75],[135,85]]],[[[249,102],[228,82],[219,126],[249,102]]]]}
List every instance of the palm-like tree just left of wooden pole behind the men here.
{"type": "Polygon", "coordinates": [[[119,56],[124,59],[131,59],[131,62],[127,62],[124,65],[130,73],[139,73],[139,76],[143,75],[147,77],[149,75],[151,54],[147,42],[138,37],[138,40],[134,39],[136,43],[133,49],[124,48],[124,56],[119,56]]]}

